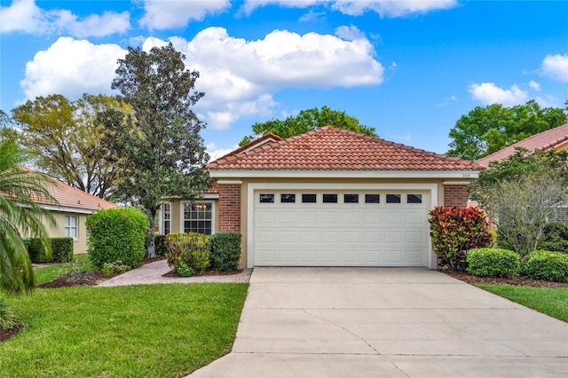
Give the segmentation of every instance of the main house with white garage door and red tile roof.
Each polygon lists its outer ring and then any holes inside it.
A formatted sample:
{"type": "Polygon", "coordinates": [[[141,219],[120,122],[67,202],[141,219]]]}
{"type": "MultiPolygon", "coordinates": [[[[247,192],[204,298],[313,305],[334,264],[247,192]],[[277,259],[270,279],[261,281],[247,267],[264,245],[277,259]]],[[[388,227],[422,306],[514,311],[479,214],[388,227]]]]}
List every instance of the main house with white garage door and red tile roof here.
{"type": "Polygon", "coordinates": [[[267,134],[207,169],[215,193],[171,199],[162,230],[241,232],[247,267],[436,269],[428,211],[465,207],[479,167],[327,126],[287,139],[267,134]]]}

